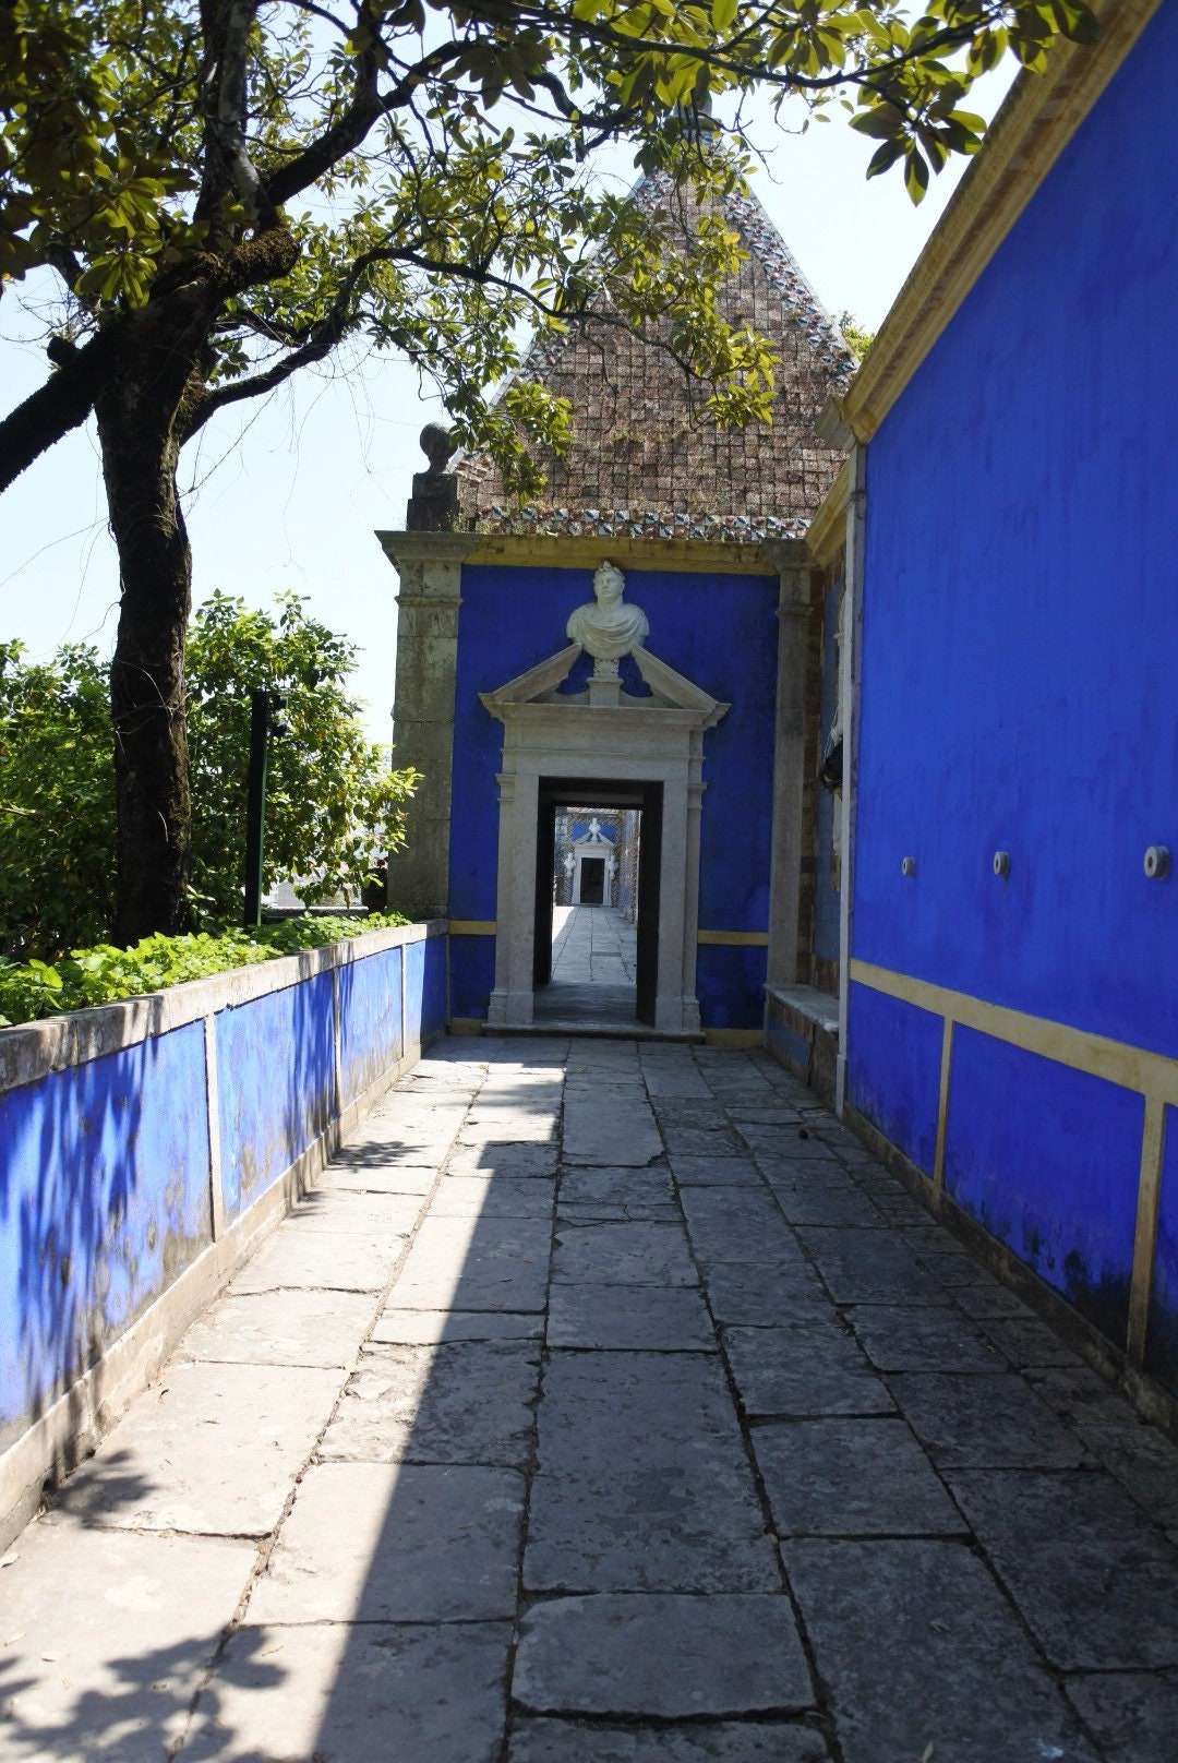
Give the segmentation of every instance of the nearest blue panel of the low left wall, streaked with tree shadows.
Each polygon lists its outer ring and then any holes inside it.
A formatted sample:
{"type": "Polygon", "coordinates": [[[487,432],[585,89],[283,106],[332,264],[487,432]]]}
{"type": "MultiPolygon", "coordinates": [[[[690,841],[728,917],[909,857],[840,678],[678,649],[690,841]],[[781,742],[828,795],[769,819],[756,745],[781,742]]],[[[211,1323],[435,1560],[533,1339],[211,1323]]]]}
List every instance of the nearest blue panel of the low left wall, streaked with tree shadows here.
{"type": "Polygon", "coordinates": [[[210,1241],[205,1031],[0,1097],[0,1449],[210,1241]]]}

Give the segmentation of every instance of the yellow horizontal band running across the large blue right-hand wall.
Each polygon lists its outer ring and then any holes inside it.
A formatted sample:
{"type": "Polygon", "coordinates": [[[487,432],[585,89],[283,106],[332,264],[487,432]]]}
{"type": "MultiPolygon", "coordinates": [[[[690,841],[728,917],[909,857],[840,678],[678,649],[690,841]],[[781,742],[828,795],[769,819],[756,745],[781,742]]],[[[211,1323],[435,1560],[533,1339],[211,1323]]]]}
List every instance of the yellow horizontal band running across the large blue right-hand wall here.
{"type": "Polygon", "coordinates": [[[1132,1047],[1125,1040],[1109,1040],[1106,1035],[1090,1035],[1083,1028],[1051,1023],[1042,1015],[1025,1015],[1021,1010],[984,1003],[980,998],[970,998],[968,993],[929,986],[928,980],[892,973],[869,961],[850,961],[848,973],[861,986],[869,986],[871,991],[885,993],[889,998],[899,998],[903,1003],[913,1003],[919,1010],[952,1017],[963,1028],[975,1028],[995,1040],[1007,1040],[1014,1047],[1023,1047],[1025,1053],[1037,1053],[1040,1058],[1069,1065],[1076,1072],[1088,1072],[1092,1077],[1104,1077],[1106,1082],[1120,1084],[1123,1090],[1137,1090],[1141,1095],[1178,1105],[1178,1060],[1167,1060],[1162,1053],[1146,1053],[1144,1047],[1132,1047]]]}

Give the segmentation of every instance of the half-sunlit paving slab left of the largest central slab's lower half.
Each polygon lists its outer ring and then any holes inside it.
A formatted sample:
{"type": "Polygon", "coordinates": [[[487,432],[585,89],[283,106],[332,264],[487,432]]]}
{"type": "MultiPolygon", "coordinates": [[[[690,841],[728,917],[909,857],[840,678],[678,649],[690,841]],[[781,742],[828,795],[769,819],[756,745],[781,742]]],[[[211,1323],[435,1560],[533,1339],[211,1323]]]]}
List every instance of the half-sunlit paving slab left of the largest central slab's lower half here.
{"type": "Polygon", "coordinates": [[[513,1618],[522,1520],[510,1469],[314,1463],[249,1622],[513,1618]]]}

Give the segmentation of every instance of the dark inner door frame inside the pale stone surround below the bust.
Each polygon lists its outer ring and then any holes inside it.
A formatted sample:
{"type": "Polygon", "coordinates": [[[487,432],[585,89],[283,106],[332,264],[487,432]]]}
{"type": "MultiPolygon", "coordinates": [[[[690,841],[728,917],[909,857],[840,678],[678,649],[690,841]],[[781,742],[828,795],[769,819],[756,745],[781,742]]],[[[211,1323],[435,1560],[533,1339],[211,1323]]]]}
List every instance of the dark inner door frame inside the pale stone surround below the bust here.
{"type": "Polygon", "coordinates": [[[642,816],[638,823],[635,1017],[638,1023],[647,1023],[654,1028],[658,1019],[658,945],[663,892],[663,783],[619,777],[540,777],[536,781],[533,1000],[536,987],[547,986],[552,978],[552,866],[555,857],[555,816],[561,807],[637,807],[642,816]]]}

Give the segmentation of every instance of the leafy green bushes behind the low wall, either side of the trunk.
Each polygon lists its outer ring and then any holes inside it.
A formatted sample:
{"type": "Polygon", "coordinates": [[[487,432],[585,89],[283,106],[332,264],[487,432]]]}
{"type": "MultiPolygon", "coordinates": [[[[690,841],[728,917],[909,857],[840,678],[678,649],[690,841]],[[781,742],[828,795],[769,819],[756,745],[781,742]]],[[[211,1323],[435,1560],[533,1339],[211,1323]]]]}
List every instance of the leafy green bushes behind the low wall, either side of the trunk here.
{"type": "MultiPolygon", "coordinates": [[[[277,615],[215,594],[189,636],[192,781],[190,919],[242,917],[249,693],[284,695],[272,744],[265,882],[300,883],[309,903],[362,889],[402,836],[411,772],[367,740],[347,696],[354,649],[307,615],[296,594],[277,615]]],[[[49,959],[101,943],[115,920],[115,755],[108,670],[69,645],[46,665],[0,645],[0,954],[49,959]]]]}

